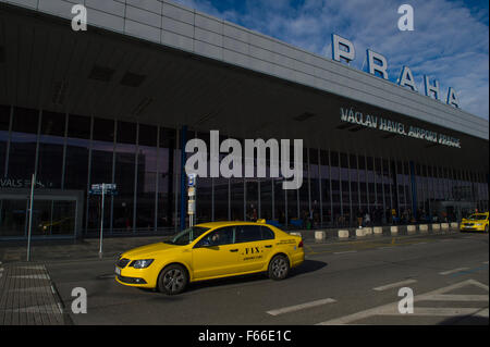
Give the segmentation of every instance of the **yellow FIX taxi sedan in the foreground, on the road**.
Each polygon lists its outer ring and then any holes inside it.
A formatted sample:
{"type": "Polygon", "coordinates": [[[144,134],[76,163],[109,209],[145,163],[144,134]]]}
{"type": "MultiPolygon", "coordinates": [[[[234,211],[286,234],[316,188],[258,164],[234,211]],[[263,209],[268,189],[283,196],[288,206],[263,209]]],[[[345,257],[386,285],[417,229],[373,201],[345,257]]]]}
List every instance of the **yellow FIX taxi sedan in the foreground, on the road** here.
{"type": "Polygon", "coordinates": [[[174,295],[189,282],[234,275],[267,272],[272,280],[283,280],[304,260],[299,236],[264,221],[211,222],[122,253],[115,281],[174,295]]]}

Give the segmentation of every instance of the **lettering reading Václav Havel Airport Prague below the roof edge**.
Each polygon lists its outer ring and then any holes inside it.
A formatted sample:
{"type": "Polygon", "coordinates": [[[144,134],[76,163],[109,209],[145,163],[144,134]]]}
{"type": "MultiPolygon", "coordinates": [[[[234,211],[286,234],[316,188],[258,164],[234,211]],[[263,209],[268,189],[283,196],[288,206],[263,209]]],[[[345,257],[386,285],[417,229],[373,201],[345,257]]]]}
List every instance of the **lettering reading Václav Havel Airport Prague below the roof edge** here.
{"type": "Polygon", "coordinates": [[[420,138],[449,147],[461,148],[458,138],[454,138],[444,134],[427,131],[413,125],[407,126],[404,123],[383,119],[377,115],[364,114],[363,112],[356,111],[353,108],[340,108],[340,111],[342,122],[348,122],[383,132],[420,138]]]}

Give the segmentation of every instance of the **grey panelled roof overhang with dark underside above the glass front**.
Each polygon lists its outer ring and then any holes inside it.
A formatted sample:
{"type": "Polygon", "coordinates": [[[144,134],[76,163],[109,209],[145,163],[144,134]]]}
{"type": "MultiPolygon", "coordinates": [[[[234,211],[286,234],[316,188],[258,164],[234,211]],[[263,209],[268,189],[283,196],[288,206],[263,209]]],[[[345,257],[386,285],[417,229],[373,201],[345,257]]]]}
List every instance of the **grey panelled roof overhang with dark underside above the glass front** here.
{"type": "Polygon", "coordinates": [[[159,3],[154,39],[144,29],[130,33],[131,12],[122,14],[127,23],[121,28],[90,10],[88,30],[74,32],[68,4],[51,11],[0,4],[0,102],[219,129],[237,138],[303,138],[306,147],[430,164],[468,169],[477,162],[475,170],[488,171],[488,121],[234,24],[159,3]],[[179,30],[176,22],[189,18],[192,37],[167,34],[163,23],[173,21],[179,30]],[[342,108],[458,138],[461,148],[343,122],[342,108]]]}

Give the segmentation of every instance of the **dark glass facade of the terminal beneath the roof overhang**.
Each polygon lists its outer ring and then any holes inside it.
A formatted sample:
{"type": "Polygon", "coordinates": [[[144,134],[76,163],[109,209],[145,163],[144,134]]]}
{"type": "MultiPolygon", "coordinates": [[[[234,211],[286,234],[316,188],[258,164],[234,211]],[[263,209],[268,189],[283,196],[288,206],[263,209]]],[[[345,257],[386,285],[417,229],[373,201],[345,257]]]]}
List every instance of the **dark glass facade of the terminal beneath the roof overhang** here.
{"type": "MultiPolygon", "coordinates": [[[[118,186],[106,198],[105,233],[177,231],[180,136],[162,126],[0,106],[0,238],[25,235],[33,173],[37,191],[51,195],[36,200],[35,235],[97,234],[101,201],[89,189],[100,183],[118,186]]],[[[209,133],[188,131],[186,137],[209,148],[209,133]]],[[[367,213],[371,224],[455,221],[488,210],[488,172],[469,168],[306,148],[297,190],[282,189],[269,161],[266,177],[198,177],[197,222],[266,219],[283,228],[338,227],[357,226],[367,213]]]]}

